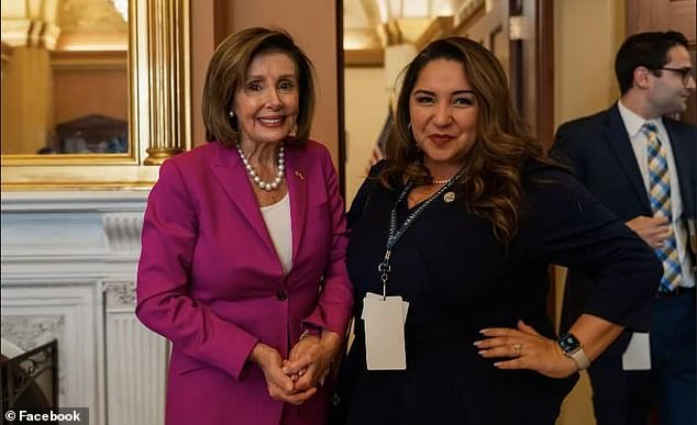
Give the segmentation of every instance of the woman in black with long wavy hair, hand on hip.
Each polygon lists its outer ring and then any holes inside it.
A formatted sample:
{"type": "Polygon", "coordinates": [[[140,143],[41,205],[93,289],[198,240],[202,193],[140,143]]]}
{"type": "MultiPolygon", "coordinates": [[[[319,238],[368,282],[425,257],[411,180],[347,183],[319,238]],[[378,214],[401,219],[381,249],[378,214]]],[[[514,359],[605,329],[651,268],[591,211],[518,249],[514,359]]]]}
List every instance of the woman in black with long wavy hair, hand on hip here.
{"type": "Polygon", "coordinates": [[[407,67],[387,160],[348,223],[356,335],[334,398],[346,424],[553,424],[577,370],[623,327],[646,325],[662,273],[547,159],[500,64],[462,37],[407,67]],[[551,262],[598,282],[558,339],[551,262]]]}

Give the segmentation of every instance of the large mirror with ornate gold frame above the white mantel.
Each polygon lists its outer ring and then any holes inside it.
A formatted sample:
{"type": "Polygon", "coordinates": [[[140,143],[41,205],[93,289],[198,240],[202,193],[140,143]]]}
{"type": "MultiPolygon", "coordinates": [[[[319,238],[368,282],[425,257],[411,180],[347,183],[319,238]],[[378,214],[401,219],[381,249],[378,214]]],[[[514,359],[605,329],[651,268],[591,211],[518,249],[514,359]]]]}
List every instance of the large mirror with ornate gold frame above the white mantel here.
{"type": "Polygon", "coordinates": [[[2,2],[2,190],[150,187],[190,147],[188,57],[189,0],[2,2]]]}

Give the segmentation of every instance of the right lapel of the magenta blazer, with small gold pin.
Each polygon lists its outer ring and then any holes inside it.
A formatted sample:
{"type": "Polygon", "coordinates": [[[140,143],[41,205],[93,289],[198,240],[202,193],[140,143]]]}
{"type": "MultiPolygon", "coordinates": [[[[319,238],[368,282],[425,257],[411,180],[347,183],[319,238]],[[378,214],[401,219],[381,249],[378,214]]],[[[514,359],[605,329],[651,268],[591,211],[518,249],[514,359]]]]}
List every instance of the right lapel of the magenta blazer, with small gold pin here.
{"type": "Polygon", "coordinates": [[[286,146],[286,184],[290,193],[294,262],[300,248],[308,211],[309,175],[303,159],[302,147],[286,146]]]}

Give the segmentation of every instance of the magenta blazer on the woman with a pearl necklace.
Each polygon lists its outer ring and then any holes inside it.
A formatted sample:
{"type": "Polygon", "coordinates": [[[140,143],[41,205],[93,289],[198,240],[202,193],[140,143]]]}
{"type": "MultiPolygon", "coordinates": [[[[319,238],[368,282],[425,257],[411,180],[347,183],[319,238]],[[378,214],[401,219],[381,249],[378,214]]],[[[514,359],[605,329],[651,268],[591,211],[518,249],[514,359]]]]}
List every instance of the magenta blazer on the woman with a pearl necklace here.
{"type": "Polygon", "coordinates": [[[286,358],[302,324],[346,329],[353,290],[331,157],[286,146],[292,269],[280,260],[236,149],[208,143],[163,164],[147,201],[136,315],[173,343],[168,425],[323,424],[329,385],[301,406],[269,398],[247,357],[286,358]]]}

